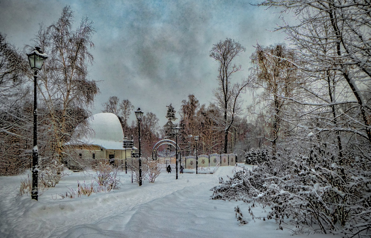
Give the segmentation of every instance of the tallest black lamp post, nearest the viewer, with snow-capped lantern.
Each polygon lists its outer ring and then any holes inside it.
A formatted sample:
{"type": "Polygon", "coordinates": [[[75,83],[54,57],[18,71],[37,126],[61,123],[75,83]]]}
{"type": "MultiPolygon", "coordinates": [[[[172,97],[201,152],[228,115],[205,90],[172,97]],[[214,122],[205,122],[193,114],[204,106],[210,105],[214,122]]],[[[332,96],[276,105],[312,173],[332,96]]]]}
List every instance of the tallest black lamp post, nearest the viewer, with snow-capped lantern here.
{"type": "Polygon", "coordinates": [[[36,100],[36,87],[37,87],[37,70],[43,67],[44,60],[47,59],[47,54],[40,50],[40,47],[35,47],[31,53],[27,54],[30,67],[33,69],[33,149],[32,149],[32,190],[31,198],[37,201],[37,177],[39,176],[38,164],[38,148],[37,148],[37,100],[36,100]]]}

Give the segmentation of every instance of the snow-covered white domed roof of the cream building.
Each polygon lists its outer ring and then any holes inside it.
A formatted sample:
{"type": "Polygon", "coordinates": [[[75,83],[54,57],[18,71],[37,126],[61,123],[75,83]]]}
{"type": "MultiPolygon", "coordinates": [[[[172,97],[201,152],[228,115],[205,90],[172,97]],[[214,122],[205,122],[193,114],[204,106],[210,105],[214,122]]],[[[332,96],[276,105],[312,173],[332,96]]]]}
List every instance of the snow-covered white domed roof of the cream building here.
{"type": "Polygon", "coordinates": [[[98,145],[105,149],[124,149],[122,141],[124,132],[121,123],[114,113],[98,113],[86,119],[91,133],[81,135],[78,133],[79,126],[76,127],[72,137],[75,139],[68,142],[68,145],[98,145]]]}

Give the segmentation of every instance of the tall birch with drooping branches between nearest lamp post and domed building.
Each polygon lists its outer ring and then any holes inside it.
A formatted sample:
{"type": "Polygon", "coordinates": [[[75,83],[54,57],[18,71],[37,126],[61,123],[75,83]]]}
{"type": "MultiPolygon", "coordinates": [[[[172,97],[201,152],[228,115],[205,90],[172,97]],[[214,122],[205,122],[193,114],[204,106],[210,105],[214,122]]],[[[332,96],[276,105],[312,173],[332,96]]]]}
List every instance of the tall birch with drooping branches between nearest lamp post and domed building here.
{"type": "Polygon", "coordinates": [[[73,129],[88,117],[99,89],[88,77],[88,64],[93,62],[89,52],[94,29],[92,22],[83,18],[76,30],[73,27],[73,11],[64,7],[58,21],[45,28],[40,27],[35,43],[47,52],[44,70],[38,74],[38,92],[45,108],[45,121],[54,138],[54,156],[63,161],[68,155],[65,143],[73,129]]]}

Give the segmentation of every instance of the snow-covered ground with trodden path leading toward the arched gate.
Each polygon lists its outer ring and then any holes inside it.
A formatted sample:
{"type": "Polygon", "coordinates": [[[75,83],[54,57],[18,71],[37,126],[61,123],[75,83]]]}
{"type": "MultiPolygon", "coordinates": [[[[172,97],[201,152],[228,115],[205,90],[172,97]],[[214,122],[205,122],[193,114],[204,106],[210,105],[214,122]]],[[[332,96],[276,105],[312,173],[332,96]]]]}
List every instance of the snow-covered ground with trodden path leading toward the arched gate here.
{"type": "MultiPolygon", "coordinates": [[[[131,173],[121,172],[121,189],[73,199],[61,197],[77,181],[91,183],[93,172],[70,172],[39,201],[18,196],[20,179],[0,177],[0,237],[290,237],[270,221],[252,220],[243,202],[211,200],[219,177],[232,176],[233,166],[214,174],[161,173],[155,183],[131,184],[131,173]],[[56,199],[55,199],[56,198],[56,199]],[[237,222],[240,205],[245,225],[237,222]]],[[[27,176],[27,175],[26,175],[27,176]]],[[[254,215],[262,214],[261,208],[254,215]]],[[[291,227],[295,231],[295,227],[291,227]]],[[[294,237],[334,237],[303,228],[294,237]]]]}

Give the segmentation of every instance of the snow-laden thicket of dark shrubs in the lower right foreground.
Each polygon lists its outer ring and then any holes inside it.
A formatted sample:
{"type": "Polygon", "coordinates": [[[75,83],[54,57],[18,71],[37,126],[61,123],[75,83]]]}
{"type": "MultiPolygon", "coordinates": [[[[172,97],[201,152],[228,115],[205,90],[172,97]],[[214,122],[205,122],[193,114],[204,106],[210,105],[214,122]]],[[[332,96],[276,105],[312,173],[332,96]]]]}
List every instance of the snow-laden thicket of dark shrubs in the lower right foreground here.
{"type": "Polygon", "coordinates": [[[271,157],[251,171],[243,168],[226,181],[220,178],[211,198],[269,207],[261,218],[275,219],[279,229],[289,222],[319,227],[324,233],[367,236],[371,153],[358,151],[356,156],[353,151],[339,158],[326,144],[299,151],[271,157]]]}

